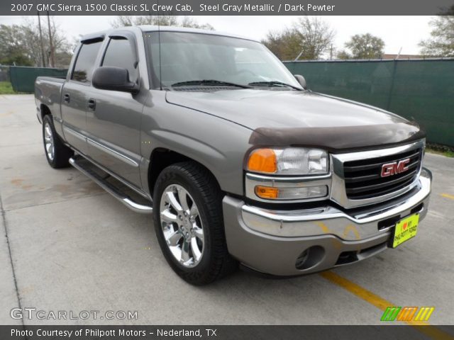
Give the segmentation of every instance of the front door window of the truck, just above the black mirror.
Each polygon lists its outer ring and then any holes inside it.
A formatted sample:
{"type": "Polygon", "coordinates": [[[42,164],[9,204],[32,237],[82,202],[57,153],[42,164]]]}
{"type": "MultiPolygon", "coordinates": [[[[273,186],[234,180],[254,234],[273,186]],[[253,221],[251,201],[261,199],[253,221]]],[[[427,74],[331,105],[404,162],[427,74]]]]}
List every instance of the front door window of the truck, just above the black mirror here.
{"type": "Polygon", "coordinates": [[[102,66],[113,66],[127,69],[130,81],[137,81],[138,72],[135,67],[135,55],[131,43],[126,38],[115,38],[109,41],[102,66]]]}

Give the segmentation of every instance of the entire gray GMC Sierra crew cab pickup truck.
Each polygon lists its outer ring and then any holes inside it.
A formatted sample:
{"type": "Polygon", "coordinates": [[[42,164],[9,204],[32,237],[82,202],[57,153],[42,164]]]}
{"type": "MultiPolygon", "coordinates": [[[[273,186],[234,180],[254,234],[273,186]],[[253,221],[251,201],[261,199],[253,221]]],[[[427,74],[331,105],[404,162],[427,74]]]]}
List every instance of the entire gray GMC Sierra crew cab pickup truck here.
{"type": "Polygon", "coordinates": [[[66,79],[38,77],[35,102],[50,166],[153,213],[165,259],[195,285],[238,263],[267,276],[355,263],[414,237],[428,209],[418,125],[307,90],[248,38],[87,35],[66,79]]]}

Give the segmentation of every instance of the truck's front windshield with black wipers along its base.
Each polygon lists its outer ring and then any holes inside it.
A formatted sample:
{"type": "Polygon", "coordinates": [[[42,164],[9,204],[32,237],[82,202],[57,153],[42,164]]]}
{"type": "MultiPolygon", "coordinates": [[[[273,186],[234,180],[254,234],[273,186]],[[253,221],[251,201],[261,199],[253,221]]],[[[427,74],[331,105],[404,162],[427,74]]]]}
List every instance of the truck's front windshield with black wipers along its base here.
{"type": "Polygon", "coordinates": [[[153,32],[144,36],[155,89],[160,83],[179,90],[213,84],[236,89],[301,89],[284,64],[260,42],[202,33],[161,32],[159,36],[153,32]]]}

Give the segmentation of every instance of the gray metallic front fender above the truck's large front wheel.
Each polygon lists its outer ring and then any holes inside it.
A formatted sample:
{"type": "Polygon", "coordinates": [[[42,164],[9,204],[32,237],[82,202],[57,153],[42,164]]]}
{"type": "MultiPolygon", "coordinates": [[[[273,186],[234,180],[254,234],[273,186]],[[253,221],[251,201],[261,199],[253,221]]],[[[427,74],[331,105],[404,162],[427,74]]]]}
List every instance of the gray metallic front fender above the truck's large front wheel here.
{"type": "Polygon", "coordinates": [[[214,115],[167,103],[162,92],[151,91],[143,111],[143,188],[148,190],[150,155],[154,149],[163,148],[204,165],[223,191],[243,195],[243,159],[251,147],[252,131],[214,115]]]}

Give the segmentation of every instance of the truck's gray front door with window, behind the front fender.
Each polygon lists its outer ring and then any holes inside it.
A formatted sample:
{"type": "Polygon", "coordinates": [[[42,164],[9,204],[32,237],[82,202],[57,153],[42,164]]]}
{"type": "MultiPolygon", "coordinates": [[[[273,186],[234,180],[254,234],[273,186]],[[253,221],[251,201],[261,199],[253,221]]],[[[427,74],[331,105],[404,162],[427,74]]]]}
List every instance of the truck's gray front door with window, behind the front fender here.
{"type": "MultiPolygon", "coordinates": [[[[101,66],[128,69],[131,81],[139,81],[135,38],[131,34],[109,36],[101,66]]],[[[87,132],[89,157],[121,179],[140,187],[140,123],[148,91],[138,94],[89,89],[87,132]]]]}

